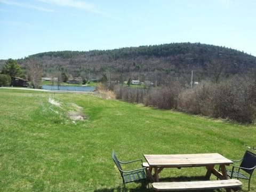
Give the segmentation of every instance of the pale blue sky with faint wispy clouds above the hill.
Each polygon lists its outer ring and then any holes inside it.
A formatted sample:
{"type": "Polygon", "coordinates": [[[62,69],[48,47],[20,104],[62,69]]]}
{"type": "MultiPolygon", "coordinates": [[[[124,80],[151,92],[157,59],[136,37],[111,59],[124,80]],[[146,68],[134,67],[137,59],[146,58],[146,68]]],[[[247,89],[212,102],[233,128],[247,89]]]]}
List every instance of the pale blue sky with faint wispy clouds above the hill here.
{"type": "Polygon", "coordinates": [[[256,56],[255,0],[0,0],[0,59],[173,42],[256,56]]]}

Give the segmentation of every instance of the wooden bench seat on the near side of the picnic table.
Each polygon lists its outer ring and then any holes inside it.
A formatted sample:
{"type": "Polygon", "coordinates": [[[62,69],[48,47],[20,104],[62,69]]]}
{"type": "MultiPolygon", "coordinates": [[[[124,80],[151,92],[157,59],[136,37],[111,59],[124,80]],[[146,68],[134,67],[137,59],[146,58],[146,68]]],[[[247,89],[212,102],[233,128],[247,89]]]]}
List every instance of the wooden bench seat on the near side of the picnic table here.
{"type": "Polygon", "coordinates": [[[168,191],[238,188],[241,186],[242,182],[237,179],[152,183],[153,189],[168,191]]]}

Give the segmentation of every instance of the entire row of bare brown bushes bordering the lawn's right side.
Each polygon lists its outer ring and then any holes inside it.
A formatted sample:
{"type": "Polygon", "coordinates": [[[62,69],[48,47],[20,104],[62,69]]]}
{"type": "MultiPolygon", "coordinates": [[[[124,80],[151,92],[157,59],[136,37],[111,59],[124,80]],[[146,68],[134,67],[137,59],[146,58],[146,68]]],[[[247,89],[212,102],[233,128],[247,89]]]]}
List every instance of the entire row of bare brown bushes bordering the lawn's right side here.
{"type": "Polygon", "coordinates": [[[179,82],[169,81],[169,85],[148,89],[116,85],[114,91],[117,99],[146,106],[255,123],[255,76],[234,76],[219,84],[201,82],[193,89],[183,89],[179,82]]]}

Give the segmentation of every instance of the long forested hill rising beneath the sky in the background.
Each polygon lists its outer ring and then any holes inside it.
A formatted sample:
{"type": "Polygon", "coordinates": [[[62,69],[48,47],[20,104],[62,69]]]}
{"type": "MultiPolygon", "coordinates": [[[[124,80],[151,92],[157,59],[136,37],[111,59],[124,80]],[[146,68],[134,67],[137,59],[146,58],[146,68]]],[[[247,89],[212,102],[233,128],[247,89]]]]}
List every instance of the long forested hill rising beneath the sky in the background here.
{"type": "Polygon", "coordinates": [[[18,63],[25,65],[29,60],[40,63],[44,73],[54,73],[61,68],[73,76],[106,71],[181,73],[195,70],[204,74],[237,74],[246,73],[256,67],[256,57],[252,55],[201,43],[171,43],[86,52],[45,52],[20,59],[18,63]]]}

